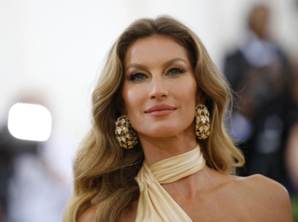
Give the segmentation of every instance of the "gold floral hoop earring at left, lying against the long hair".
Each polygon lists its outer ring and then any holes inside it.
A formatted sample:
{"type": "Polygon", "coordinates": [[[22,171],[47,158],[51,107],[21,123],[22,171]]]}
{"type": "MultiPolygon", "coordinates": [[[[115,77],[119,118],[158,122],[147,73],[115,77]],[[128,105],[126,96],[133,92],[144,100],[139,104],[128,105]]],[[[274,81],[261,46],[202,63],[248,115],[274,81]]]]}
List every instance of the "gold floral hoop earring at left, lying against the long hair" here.
{"type": "Polygon", "coordinates": [[[117,119],[115,134],[120,146],[125,149],[131,149],[138,143],[136,131],[132,128],[127,116],[120,116],[117,119]]]}

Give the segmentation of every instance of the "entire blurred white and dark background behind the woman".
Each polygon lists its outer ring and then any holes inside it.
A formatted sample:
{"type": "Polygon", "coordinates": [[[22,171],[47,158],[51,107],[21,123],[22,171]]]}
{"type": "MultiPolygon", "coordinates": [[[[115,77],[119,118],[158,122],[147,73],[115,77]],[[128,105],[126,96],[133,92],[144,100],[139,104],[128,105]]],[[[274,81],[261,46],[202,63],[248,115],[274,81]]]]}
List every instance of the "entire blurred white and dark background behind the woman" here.
{"type": "Polygon", "coordinates": [[[236,92],[238,174],[282,183],[298,221],[298,0],[1,0],[0,222],[62,220],[103,59],[161,14],[198,34],[236,92]]]}

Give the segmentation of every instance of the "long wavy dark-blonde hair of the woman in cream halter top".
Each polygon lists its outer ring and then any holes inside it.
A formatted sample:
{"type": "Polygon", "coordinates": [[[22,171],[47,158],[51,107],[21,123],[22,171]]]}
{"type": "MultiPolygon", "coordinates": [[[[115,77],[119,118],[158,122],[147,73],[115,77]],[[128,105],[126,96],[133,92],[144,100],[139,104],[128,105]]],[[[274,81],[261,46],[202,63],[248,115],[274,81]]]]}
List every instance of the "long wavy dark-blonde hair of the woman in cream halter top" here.
{"type": "Polygon", "coordinates": [[[119,91],[127,48],[136,39],[153,35],[172,38],[187,50],[198,88],[204,92],[205,105],[210,112],[210,136],[198,141],[207,166],[230,174],[244,164],[243,154],[235,147],[224,125],[224,113],[232,93],[200,39],[168,16],[139,19],[112,46],[93,91],[93,126],[77,151],[73,166],[74,191],[65,209],[64,222],[77,221],[99,201],[94,221],[119,221],[130,203],[138,199],[139,188],[134,178],[144,160],[141,144],[130,150],[123,149],[114,131],[115,121],[120,116],[119,91]]]}

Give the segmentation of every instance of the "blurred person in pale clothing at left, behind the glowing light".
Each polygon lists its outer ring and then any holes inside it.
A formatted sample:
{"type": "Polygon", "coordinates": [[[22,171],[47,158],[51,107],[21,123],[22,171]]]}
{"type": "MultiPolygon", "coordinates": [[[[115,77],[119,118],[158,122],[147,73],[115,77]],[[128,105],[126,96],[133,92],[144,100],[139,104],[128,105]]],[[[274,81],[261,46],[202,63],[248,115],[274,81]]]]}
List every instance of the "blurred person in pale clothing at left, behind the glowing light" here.
{"type": "MultiPolygon", "coordinates": [[[[47,107],[45,100],[36,95],[24,93],[14,103],[47,107]]],[[[58,143],[51,136],[46,141],[18,139],[10,130],[6,124],[0,131],[2,220],[61,221],[69,197],[70,181],[63,174],[65,166],[61,165],[67,144],[58,143]]]]}

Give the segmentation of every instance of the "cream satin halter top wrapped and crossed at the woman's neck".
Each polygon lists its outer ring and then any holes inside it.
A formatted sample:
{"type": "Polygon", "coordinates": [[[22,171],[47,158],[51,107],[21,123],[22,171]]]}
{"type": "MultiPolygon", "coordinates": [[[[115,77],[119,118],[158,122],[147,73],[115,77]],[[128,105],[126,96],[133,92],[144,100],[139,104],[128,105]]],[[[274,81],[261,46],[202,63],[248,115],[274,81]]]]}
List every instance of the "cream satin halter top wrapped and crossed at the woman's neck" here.
{"type": "Polygon", "coordinates": [[[200,171],[206,165],[200,146],[178,156],[161,160],[148,167],[146,161],[136,181],[140,197],[136,222],[170,222],[192,220],[165,191],[161,184],[172,183],[200,171]]]}

